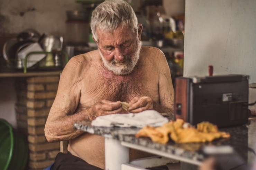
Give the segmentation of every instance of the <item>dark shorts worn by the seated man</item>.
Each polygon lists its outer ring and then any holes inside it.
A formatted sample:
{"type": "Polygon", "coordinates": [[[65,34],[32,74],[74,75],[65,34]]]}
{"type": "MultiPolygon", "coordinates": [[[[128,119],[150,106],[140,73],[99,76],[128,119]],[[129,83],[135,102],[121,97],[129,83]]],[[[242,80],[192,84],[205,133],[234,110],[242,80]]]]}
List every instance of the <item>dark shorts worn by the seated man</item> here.
{"type": "Polygon", "coordinates": [[[51,170],[102,170],[68,153],[58,153],[51,170]]]}

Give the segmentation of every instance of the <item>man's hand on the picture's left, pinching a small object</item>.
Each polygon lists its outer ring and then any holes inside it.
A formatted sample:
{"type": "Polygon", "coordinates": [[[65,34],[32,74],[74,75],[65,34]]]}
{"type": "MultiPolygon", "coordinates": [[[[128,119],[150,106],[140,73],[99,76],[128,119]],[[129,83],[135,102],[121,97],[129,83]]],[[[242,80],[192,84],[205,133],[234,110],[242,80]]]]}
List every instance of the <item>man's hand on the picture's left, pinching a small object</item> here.
{"type": "Polygon", "coordinates": [[[121,113],[122,107],[120,101],[112,102],[109,100],[102,100],[95,103],[92,106],[92,111],[94,112],[94,118],[102,115],[121,113]]]}

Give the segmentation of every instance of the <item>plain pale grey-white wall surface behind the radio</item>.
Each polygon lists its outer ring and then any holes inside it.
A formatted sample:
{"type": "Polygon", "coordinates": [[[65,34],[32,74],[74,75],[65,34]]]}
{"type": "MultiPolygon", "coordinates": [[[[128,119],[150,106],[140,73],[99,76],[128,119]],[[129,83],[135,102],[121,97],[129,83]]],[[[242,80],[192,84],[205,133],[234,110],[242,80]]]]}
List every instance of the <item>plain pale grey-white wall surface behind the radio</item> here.
{"type": "Polygon", "coordinates": [[[256,1],[186,0],[184,76],[250,75],[256,83],[256,1]]]}

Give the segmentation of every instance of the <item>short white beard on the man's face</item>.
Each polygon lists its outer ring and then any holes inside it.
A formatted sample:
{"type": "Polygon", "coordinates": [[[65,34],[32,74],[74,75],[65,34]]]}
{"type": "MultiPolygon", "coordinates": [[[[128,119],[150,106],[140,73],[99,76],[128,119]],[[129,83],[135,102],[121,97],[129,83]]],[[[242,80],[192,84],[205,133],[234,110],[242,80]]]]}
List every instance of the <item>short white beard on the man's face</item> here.
{"type": "Polygon", "coordinates": [[[101,56],[101,59],[103,61],[104,66],[110,70],[111,72],[115,73],[116,75],[127,75],[130,74],[132,72],[132,70],[134,69],[134,67],[136,66],[138,60],[139,60],[139,54],[140,54],[140,50],[141,50],[141,44],[139,43],[139,40],[137,39],[136,41],[136,51],[133,54],[133,57],[131,57],[130,55],[126,55],[124,56],[124,61],[127,61],[127,64],[121,64],[121,65],[115,65],[115,63],[120,63],[120,61],[116,60],[115,58],[111,61],[108,62],[102,55],[100,49],[99,49],[99,53],[101,56]]]}

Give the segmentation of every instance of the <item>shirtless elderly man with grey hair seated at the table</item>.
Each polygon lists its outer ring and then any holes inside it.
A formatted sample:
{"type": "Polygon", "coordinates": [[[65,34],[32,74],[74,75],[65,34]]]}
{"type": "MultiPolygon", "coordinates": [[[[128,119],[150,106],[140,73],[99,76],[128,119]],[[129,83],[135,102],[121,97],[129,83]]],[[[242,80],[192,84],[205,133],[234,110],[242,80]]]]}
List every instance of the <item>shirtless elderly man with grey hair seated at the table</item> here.
{"type": "MultiPolygon", "coordinates": [[[[174,90],[163,52],[140,45],[142,25],[131,6],[108,0],[92,13],[91,29],[98,49],[72,57],[63,69],[49,113],[49,142],[69,140],[68,151],[56,156],[57,169],[104,169],[104,137],[76,130],[73,123],[97,116],[156,110],[172,113],[174,90]],[[86,162],[85,162],[86,161],[86,162]]],[[[130,159],[144,157],[131,151],[130,159]]]]}

